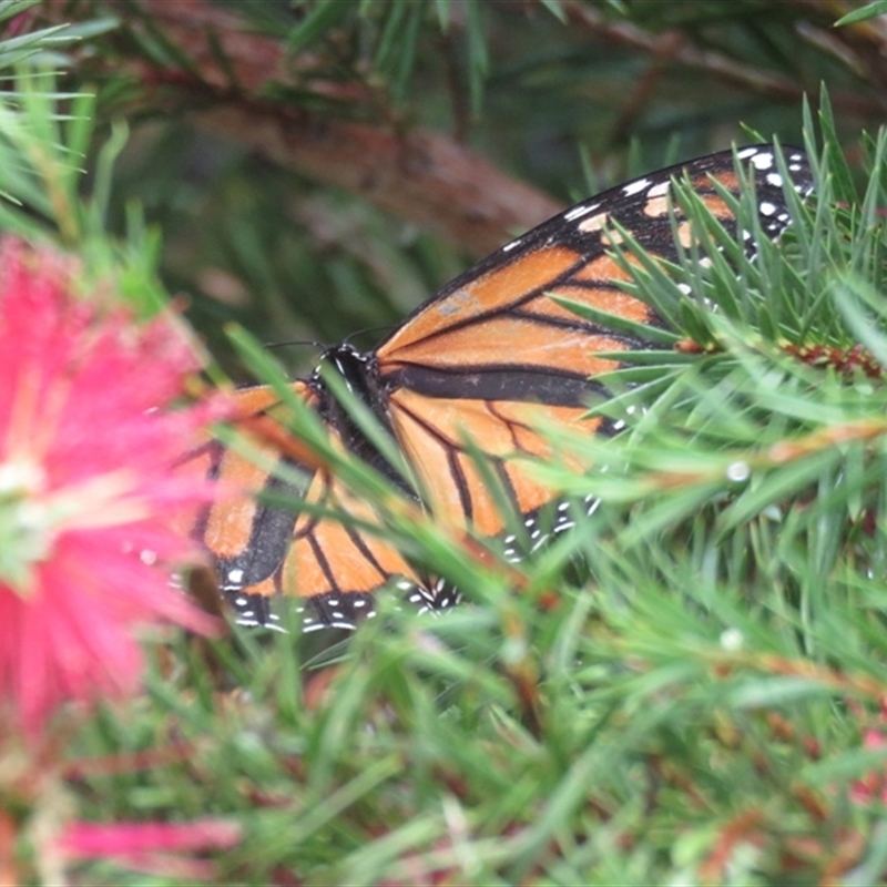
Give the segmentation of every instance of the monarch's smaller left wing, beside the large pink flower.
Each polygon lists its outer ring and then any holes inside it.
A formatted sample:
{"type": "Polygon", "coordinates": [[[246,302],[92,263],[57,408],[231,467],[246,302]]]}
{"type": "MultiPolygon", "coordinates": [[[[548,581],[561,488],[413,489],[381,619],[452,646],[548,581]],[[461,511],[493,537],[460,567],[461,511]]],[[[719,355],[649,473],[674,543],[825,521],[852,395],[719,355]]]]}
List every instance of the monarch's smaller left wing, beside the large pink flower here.
{"type": "MultiPolygon", "coordinates": [[[[307,383],[297,381],[293,388],[317,408],[307,383]]],[[[281,429],[288,426],[272,388],[245,388],[235,397],[242,427],[256,428],[256,420],[268,419],[281,429]]],[[[335,443],[335,431],[327,430],[335,443]]],[[[275,438],[253,431],[248,452],[206,440],[185,460],[187,470],[217,479],[233,493],[202,514],[195,533],[213,555],[218,587],[238,621],[274,626],[279,623],[275,601],[287,594],[309,602],[303,618],[306,630],[353,628],[358,616],[373,615],[373,591],[395,577],[417,603],[428,599],[420,578],[397,550],[360,529],[378,523],[371,508],[316,461],[285,455],[275,438]],[[263,501],[268,495],[299,499],[349,520],[310,510],[297,514],[263,501]]]]}

